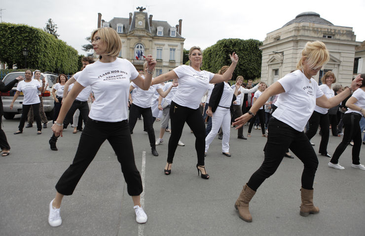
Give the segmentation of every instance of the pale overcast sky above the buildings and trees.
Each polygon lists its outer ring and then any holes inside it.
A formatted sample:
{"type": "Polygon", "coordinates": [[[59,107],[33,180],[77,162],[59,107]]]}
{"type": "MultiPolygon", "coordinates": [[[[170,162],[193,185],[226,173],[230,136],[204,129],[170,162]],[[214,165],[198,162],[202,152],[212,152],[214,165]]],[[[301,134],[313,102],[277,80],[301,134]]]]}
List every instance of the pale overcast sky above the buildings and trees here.
{"type": "Polygon", "coordinates": [[[202,49],[222,38],[258,39],[283,27],[296,15],[314,11],[335,26],[352,27],[356,41],[365,40],[365,0],[2,0],[2,22],[43,29],[49,18],[57,24],[59,38],[85,54],[81,45],[102,19],[128,18],[137,6],[146,7],[153,20],[171,26],[183,20],[184,48],[202,49]]]}

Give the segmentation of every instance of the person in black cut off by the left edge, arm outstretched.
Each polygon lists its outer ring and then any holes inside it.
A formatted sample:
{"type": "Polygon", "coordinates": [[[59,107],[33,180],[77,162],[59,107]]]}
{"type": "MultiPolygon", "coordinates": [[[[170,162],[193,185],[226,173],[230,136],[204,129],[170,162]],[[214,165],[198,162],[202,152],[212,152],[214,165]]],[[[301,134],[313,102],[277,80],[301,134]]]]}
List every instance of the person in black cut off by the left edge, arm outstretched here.
{"type": "MultiPolygon", "coordinates": [[[[0,81],[0,92],[7,92],[10,89],[12,89],[16,83],[19,81],[22,81],[24,78],[22,76],[18,76],[13,81],[8,83],[7,85],[4,84],[4,82],[0,81]]],[[[10,146],[7,142],[6,135],[4,131],[1,129],[2,124],[2,115],[4,114],[4,109],[2,107],[2,100],[0,97],[0,148],[2,150],[2,156],[7,156],[10,154],[10,146]]]]}

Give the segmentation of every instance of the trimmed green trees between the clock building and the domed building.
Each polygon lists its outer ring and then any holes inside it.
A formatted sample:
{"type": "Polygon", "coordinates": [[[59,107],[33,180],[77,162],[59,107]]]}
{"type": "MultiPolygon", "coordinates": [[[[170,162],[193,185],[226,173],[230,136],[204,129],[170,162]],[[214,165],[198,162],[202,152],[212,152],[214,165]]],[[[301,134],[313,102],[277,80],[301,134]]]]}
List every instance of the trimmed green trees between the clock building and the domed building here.
{"type": "Polygon", "coordinates": [[[203,52],[202,69],[217,73],[223,65],[230,65],[229,54],[235,52],[238,57],[232,80],[242,75],[245,80],[260,77],[262,52],[258,48],[262,42],[256,39],[221,39],[203,52]]]}

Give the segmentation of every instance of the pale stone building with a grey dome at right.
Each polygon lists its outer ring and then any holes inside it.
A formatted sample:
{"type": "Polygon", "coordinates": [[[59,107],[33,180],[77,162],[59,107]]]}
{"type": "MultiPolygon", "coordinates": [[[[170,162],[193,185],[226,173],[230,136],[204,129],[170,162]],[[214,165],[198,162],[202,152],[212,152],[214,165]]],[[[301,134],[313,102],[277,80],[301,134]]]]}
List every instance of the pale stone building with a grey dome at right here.
{"type": "Polygon", "coordinates": [[[296,69],[300,53],[308,41],[320,40],[329,51],[330,59],[314,77],[331,70],[337,83],[344,86],[353,77],[356,35],[351,27],[335,26],[315,12],[303,12],[282,28],[266,34],[262,50],[261,81],[269,85],[296,69]]]}

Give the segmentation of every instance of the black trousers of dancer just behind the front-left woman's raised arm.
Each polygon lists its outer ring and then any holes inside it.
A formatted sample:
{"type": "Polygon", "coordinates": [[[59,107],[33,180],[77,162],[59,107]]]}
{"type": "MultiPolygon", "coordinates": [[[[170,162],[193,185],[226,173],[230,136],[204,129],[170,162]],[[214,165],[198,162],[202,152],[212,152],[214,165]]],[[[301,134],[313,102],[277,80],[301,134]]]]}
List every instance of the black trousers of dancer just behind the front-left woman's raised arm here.
{"type": "Polygon", "coordinates": [[[149,145],[151,148],[155,147],[155,135],[153,129],[153,117],[151,107],[142,108],[132,103],[129,108],[129,128],[130,132],[133,132],[134,126],[136,125],[138,117],[143,116],[143,126],[148,133],[149,145]]]}

